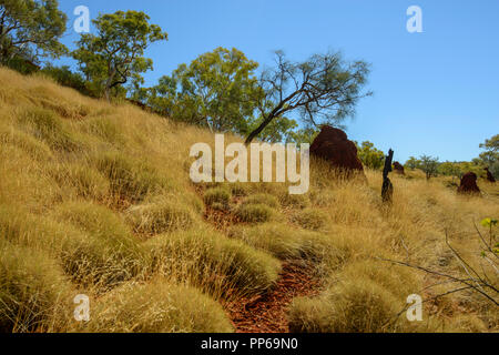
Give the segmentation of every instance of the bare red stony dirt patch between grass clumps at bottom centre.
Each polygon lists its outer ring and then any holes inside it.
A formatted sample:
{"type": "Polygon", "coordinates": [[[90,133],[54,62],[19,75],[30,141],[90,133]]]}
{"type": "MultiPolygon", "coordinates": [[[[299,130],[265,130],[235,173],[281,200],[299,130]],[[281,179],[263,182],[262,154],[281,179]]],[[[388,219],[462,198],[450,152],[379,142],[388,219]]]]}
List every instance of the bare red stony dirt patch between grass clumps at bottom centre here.
{"type": "Polygon", "coordinates": [[[285,262],[276,285],[266,294],[225,305],[237,333],[289,333],[287,310],[294,297],[314,296],[320,282],[314,266],[285,262]]]}

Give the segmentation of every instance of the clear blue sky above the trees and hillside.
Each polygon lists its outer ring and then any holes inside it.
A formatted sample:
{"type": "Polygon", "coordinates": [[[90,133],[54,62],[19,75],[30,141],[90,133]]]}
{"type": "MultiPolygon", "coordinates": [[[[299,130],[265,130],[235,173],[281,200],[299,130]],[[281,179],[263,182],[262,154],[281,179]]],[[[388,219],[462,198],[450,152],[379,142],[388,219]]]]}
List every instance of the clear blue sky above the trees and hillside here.
{"type": "MultiPolygon", "coordinates": [[[[368,89],[347,133],[396,159],[429,154],[471,160],[499,133],[499,0],[60,0],[70,22],[84,4],[99,12],[142,10],[170,40],[147,50],[146,84],[216,47],[235,47],[261,64],[283,49],[294,60],[340,50],[371,63],[368,89]],[[422,33],[406,30],[409,6],[422,33]]],[[[74,48],[78,34],[64,42],[74,48]]],[[[68,60],[65,60],[68,62],[68,60]]]]}

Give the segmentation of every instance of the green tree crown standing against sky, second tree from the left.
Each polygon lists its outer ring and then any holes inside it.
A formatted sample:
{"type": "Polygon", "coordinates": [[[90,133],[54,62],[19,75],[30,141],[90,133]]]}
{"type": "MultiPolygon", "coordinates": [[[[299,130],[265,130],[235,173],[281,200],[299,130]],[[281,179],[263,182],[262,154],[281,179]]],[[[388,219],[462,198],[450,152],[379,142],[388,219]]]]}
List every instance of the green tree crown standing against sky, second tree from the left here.
{"type": "Polygon", "coordinates": [[[167,34],[149,20],[138,11],[100,14],[92,21],[96,34],[84,33],[78,41],[73,58],[108,99],[113,88],[119,90],[130,79],[143,83],[141,74],[152,69],[153,62],[143,57],[144,51],[150,43],[166,40],[167,34]]]}

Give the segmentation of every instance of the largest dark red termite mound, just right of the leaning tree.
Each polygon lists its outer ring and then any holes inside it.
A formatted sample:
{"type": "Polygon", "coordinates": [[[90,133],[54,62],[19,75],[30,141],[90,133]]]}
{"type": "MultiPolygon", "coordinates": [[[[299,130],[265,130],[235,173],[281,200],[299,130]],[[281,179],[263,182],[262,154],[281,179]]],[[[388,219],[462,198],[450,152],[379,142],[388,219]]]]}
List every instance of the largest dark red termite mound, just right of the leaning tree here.
{"type": "Polygon", "coordinates": [[[361,173],[364,176],[364,166],[357,156],[357,146],[342,130],[324,125],[312,143],[310,154],[328,161],[333,168],[347,175],[361,173]]]}

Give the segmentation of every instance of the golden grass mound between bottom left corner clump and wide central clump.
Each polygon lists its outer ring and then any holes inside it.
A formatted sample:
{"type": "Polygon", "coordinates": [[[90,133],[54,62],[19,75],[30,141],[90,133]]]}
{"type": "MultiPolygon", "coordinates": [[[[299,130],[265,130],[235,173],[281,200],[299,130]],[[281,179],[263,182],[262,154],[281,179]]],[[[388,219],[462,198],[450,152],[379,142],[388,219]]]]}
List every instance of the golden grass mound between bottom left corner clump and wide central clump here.
{"type": "Polygon", "coordinates": [[[105,291],[149,268],[138,240],[110,210],[77,202],[61,205],[55,216],[83,233],[63,250],[64,267],[75,283],[105,291]]]}

